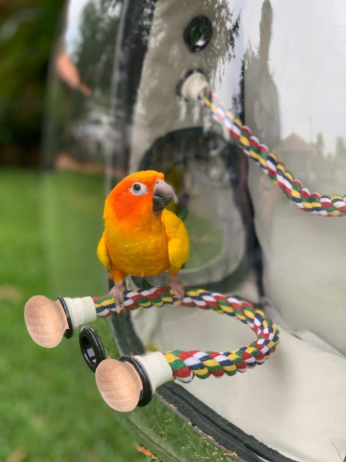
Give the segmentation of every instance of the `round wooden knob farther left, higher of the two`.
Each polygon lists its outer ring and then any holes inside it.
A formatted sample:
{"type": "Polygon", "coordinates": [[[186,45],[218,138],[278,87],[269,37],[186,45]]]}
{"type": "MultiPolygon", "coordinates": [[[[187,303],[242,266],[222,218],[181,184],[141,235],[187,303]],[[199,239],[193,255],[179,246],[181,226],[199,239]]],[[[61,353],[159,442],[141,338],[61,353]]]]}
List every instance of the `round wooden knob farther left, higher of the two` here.
{"type": "Polygon", "coordinates": [[[59,300],[42,295],[31,297],[25,304],[24,320],[32,340],[45,348],[59,345],[68,323],[59,300]]]}

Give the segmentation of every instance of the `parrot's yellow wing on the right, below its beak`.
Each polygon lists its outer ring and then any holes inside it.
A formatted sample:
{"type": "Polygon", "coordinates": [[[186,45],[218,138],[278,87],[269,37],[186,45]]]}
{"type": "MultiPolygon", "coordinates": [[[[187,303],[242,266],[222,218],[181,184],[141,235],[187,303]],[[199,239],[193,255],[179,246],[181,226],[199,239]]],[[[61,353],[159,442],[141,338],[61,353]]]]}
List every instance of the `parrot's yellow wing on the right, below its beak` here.
{"type": "MultiPolygon", "coordinates": [[[[168,238],[168,259],[170,265],[179,269],[189,258],[190,242],[184,223],[173,212],[164,209],[162,212],[162,223],[165,225],[168,238]]],[[[173,269],[172,268],[172,269],[173,269]]]]}

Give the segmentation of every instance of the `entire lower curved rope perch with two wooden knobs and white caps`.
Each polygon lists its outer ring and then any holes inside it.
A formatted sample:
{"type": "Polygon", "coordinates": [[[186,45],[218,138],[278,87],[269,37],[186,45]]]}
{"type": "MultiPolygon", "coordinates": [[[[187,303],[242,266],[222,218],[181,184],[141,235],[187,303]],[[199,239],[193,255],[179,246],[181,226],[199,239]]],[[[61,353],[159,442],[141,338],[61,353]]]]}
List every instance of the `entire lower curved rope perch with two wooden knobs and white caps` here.
{"type": "MultiPolygon", "coordinates": [[[[124,292],[124,310],[150,308],[173,303],[170,287],[152,287],[124,292]]],[[[185,289],[182,304],[227,314],[247,324],[256,333],[250,345],[227,352],[181,350],[104,359],[96,368],[95,379],[102,398],[115,410],[127,412],[145,406],[155,390],[170,380],[190,382],[193,377],[221,377],[245,372],[262,365],[279,343],[279,331],[262,310],[235,297],[225,297],[203,289],[185,289]]],[[[31,338],[39,345],[57,346],[64,334],[70,338],[74,330],[97,317],[118,313],[113,294],[103,297],[67,298],[57,301],[43,296],[30,298],[24,308],[24,319],[31,338]]]]}

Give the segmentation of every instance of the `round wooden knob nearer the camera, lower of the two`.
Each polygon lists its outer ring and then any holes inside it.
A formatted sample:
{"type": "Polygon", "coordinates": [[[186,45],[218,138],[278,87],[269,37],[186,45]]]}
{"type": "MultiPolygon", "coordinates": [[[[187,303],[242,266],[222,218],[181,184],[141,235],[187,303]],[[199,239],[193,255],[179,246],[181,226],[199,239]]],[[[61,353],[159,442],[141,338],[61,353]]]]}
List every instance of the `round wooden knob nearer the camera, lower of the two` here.
{"type": "Polygon", "coordinates": [[[137,406],[143,387],[130,363],[105,359],[97,366],[95,379],[102,398],[112,409],[129,412],[137,406]]]}

